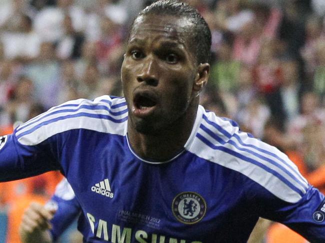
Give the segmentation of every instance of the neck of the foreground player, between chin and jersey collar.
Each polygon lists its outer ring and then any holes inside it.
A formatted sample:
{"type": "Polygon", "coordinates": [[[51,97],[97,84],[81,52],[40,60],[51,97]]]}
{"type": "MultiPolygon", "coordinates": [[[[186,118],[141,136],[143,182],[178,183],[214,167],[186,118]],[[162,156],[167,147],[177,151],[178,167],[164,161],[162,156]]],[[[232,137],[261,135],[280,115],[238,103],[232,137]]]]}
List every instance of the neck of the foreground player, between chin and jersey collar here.
{"type": "Polygon", "coordinates": [[[193,103],[183,116],[154,134],[139,133],[128,125],[128,140],[134,152],[145,160],[157,162],[175,157],[191,134],[198,105],[193,103]]]}

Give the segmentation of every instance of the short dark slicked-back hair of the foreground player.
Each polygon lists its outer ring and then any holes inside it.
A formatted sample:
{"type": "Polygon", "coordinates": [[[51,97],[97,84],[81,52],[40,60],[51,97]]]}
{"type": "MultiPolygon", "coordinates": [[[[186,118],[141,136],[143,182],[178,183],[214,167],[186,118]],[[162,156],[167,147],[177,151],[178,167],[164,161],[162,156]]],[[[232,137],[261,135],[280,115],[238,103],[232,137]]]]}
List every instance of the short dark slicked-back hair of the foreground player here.
{"type": "Polygon", "coordinates": [[[198,63],[208,62],[211,48],[211,31],[204,18],[195,8],[178,0],[158,0],[139,12],[133,21],[133,25],[139,17],[149,14],[188,18],[193,23],[193,29],[190,33],[193,38],[196,60],[198,63]]]}

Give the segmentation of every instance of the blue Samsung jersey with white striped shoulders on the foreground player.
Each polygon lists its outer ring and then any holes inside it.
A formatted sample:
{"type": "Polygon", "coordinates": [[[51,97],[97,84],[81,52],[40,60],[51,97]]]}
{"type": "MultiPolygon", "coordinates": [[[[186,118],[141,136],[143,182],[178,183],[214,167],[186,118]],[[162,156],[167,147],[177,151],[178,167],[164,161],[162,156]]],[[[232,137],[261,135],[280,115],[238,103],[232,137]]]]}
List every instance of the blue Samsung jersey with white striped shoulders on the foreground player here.
{"type": "Polygon", "coordinates": [[[258,217],[325,242],[324,196],[286,155],[201,106],[183,150],[164,162],[132,150],[124,98],[69,101],[0,139],[0,180],[57,169],[85,242],[241,243],[258,217]]]}

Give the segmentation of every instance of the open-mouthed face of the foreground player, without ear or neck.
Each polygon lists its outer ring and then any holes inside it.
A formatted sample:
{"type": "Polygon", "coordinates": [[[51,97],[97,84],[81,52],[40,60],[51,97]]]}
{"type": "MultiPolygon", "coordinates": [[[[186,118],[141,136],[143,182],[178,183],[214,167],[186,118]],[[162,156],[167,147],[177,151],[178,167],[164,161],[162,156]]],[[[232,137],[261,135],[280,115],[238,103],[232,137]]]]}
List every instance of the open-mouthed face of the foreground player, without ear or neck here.
{"type": "Polygon", "coordinates": [[[144,134],[161,132],[184,116],[197,92],[196,57],[187,18],[148,15],[133,26],[121,68],[129,125],[144,134]]]}

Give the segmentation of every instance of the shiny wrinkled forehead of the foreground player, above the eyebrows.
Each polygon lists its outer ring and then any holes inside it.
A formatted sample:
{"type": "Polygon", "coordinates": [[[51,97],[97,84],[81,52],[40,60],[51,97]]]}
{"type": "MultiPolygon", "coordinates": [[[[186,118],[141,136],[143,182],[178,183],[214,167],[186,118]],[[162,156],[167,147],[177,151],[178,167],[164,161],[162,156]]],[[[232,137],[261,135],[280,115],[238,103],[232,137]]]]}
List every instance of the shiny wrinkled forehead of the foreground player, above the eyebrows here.
{"type": "Polygon", "coordinates": [[[129,41],[144,36],[151,41],[163,38],[179,42],[188,48],[192,25],[187,17],[182,16],[155,14],[139,16],[133,24],[129,41]]]}

